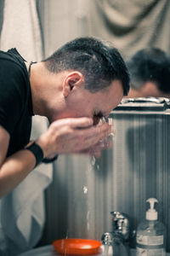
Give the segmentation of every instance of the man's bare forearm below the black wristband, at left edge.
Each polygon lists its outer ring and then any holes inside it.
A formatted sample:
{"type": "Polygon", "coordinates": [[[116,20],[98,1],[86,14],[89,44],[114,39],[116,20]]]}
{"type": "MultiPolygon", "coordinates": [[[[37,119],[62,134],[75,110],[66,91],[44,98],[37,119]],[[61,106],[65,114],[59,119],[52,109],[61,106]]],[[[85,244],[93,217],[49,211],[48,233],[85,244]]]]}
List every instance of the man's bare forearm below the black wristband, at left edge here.
{"type": "Polygon", "coordinates": [[[9,156],[0,168],[0,197],[13,190],[35,167],[36,158],[23,149],[9,156]]]}

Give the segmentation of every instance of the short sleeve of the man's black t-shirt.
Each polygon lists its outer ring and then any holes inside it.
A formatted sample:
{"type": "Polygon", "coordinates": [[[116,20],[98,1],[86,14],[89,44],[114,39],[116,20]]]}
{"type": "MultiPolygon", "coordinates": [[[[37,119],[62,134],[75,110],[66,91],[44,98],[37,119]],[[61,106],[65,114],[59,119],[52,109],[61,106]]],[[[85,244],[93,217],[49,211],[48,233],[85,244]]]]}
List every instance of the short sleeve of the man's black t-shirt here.
{"type": "Polygon", "coordinates": [[[0,61],[0,125],[11,135],[20,120],[25,101],[25,79],[19,65],[0,61]]]}

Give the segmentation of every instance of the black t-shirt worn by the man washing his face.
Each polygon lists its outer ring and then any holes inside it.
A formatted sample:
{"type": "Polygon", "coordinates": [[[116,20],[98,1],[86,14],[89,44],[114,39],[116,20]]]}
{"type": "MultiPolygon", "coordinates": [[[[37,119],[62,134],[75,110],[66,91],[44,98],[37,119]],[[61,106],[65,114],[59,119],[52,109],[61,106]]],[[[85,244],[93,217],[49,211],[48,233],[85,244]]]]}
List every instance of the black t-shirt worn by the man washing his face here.
{"type": "Polygon", "coordinates": [[[10,134],[7,155],[29,143],[32,115],[31,87],[25,60],[16,49],[0,51],[0,125],[10,134]]]}

